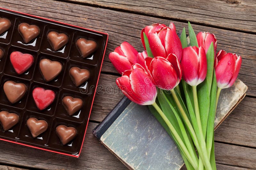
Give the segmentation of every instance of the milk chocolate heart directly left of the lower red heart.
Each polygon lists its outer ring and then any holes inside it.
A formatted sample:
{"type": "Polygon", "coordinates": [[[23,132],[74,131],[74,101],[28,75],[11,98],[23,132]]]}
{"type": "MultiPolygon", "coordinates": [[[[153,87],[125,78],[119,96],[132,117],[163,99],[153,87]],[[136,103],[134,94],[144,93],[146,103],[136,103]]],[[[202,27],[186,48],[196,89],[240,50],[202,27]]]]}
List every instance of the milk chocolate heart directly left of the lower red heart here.
{"type": "Polygon", "coordinates": [[[28,87],[23,83],[16,83],[14,81],[6,81],[4,83],[4,93],[9,102],[18,102],[27,92],[28,87]]]}

